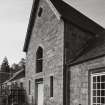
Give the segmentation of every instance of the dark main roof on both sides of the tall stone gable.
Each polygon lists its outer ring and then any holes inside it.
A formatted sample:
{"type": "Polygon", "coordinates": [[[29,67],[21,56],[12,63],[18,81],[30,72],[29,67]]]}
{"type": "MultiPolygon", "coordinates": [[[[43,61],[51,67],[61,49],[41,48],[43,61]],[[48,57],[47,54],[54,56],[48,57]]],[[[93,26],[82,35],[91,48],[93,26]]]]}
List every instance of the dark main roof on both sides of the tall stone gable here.
{"type": "MultiPolygon", "coordinates": [[[[68,20],[69,22],[93,34],[99,34],[104,30],[100,25],[98,25],[88,17],[84,16],[82,13],[80,13],[79,11],[77,11],[76,9],[74,9],[64,1],[62,0],[50,0],[50,1],[57,9],[57,11],[61,14],[62,19],[68,20]]],[[[27,49],[28,49],[28,44],[30,41],[32,29],[34,26],[38,4],[39,4],[39,0],[35,0],[33,3],[29,25],[27,29],[27,34],[26,34],[26,39],[25,39],[25,44],[23,48],[23,51],[25,52],[27,52],[27,49]]]]}

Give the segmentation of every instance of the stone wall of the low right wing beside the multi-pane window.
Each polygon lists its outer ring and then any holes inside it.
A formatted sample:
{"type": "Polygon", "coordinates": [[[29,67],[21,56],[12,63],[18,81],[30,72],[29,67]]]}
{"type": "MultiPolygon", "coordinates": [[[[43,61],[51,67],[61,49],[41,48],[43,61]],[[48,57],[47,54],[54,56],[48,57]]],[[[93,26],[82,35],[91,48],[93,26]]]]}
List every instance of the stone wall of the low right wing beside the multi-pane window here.
{"type": "Polygon", "coordinates": [[[70,105],[90,104],[90,70],[101,68],[105,69],[105,57],[69,67],[70,105]]]}

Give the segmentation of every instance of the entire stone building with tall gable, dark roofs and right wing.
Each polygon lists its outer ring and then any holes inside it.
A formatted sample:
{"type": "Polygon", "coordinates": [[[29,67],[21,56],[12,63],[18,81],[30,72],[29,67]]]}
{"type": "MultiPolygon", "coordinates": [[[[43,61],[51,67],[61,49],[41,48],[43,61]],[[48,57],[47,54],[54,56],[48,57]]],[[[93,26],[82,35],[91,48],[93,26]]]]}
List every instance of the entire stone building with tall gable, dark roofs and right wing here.
{"type": "Polygon", "coordinates": [[[64,1],[34,0],[24,44],[28,103],[105,103],[104,39],[104,28],[64,1]]]}

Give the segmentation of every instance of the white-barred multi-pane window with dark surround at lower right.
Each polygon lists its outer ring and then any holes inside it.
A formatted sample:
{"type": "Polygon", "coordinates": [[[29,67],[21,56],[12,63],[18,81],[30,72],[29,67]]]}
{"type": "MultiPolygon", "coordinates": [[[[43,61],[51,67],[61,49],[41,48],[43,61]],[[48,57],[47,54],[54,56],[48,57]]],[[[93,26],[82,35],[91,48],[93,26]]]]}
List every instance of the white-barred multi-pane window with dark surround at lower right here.
{"type": "MultiPolygon", "coordinates": [[[[103,75],[105,76],[105,67],[89,70],[89,79],[90,79],[90,86],[89,86],[89,88],[90,88],[89,89],[90,90],[90,92],[89,92],[90,95],[89,96],[90,97],[89,98],[90,98],[90,105],[97,105],[97,104],[102,105],[102,104],[105,104],[105,93],[104,93],[104,96],[102,96],[102,91],[104,90],[104,92],[105,92],[105,87],[103,89],[101,88],[101,85],[103,83],[101,76],[103,76],[103,75]],[[98,82],[98,80],[97,80],[96,84],[93,83],[93,77],[95,77],[95,76],[96,76],[96,79],[100,78],[100,82],[98,82]],[[97,85],[96,90],[93,89],[94,84],[97,85]],[[100,87],[99,87],[99,85],[100,85],[100,87]],[[94,94],[96,94],[96,96],[94,94]],[[96,98],[96,103],[93,103],[93,98],[94,99],[96,98]],[[104,98],[104,103],[101,103],[102,98],[104,98]],[[100,103],[98,103],[98,102],[100,102],[100,103]]],[[[104,83],[105,83],[105,81],[104,81],[104,83]]]]}

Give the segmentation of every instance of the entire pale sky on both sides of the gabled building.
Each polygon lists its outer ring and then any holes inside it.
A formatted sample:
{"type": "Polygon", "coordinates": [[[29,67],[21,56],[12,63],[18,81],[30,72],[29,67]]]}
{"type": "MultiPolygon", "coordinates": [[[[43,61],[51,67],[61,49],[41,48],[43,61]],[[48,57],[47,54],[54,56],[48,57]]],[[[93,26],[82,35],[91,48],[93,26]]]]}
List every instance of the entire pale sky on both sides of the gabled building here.
{"type": "MultiPolygon", "coordinates": [[[[105,0],[65,0],[105,28],[105,0]]],[[[25,57],[23,46],[33,0],[0,0],[0,65],[25,57]]]]}

